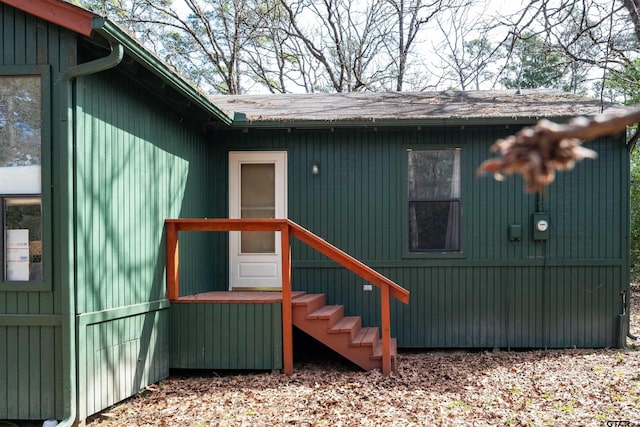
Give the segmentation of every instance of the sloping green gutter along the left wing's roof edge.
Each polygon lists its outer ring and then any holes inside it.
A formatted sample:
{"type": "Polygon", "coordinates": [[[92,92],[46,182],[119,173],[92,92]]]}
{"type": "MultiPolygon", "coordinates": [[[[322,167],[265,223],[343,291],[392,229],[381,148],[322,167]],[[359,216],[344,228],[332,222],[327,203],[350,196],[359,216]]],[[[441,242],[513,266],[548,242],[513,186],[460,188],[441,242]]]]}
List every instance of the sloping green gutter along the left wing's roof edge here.
{"type": "Polygon", "coordinates": [[[190,102],[193,102],[199,108],[211,114],[211,116],[220,120],[224,124],[230,125],[233,122],[231,117],[213,105],[205,95],[200,93],[197,89],[183,80],[177,73],[171,70],[166,64],[149,53],[148,50],[118,28],[117,25],[102,18],[95,18],[93,26],[94,30],[102,36],[107,39],[113,39],[124,46],[127,54],[129,54],[129,56],[131,56],[136,62],[140,63],[142,66],[177,89],[180,93],[184,94],[190,102]]]}

